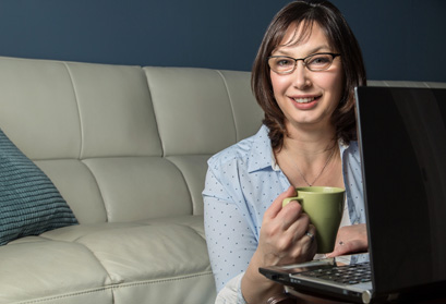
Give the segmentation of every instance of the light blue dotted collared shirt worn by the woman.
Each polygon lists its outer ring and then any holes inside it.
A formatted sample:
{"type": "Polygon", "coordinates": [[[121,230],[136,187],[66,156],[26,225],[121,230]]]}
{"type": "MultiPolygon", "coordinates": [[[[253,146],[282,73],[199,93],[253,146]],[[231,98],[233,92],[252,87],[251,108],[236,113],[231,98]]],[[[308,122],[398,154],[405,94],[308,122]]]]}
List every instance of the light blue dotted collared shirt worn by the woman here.
{"type": "MultiPolygon", "coordinates": [[[[351,223],[364,223],[358,143],[339,148],[351,223]]],[[[273,159],[268,129],[263,125],[257,134],[208,160],[203,191],[205,232],[218,291],[245,271],[257,248],[265,210],[290,186],[273,159]]]]}

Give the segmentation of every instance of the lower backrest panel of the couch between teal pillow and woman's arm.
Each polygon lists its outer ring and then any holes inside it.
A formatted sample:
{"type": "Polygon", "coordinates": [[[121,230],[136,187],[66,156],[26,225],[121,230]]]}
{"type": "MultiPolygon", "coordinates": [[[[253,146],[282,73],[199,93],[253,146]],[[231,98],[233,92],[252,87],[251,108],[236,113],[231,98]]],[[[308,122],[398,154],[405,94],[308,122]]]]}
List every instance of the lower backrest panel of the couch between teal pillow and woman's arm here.
{"type": "Polygon", "coordinates": [[[164,158],[92,158],[84,163],[97,180],[110,222],[192,214],[181,172],[164,158]]]}

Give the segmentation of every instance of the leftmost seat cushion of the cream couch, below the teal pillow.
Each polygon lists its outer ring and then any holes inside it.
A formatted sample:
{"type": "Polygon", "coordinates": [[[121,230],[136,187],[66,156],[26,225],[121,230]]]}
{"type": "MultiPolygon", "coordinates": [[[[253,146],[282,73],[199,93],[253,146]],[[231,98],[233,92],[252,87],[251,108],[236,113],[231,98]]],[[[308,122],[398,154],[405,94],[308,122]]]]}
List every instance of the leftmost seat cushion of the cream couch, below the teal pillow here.
{"type": "Polygon", "coordinates": [[[59,299],[55,303],[71,303],[81,293],[89,294],[88,300],[75,303],[113,303],[112,291],[106,288],[111,282],[109,275],[82,244],[27,236],[2,246],[1,257],[1,304],[52,303],[51,297],[59,299]],[[95,302],[95,293],[104,301],[95,302]]]}

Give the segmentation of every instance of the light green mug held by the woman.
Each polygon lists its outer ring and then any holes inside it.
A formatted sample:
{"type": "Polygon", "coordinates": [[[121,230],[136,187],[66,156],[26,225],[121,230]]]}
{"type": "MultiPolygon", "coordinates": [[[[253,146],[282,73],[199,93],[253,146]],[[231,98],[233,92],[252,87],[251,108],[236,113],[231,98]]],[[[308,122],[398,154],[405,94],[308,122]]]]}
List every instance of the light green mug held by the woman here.
{"type": "Polygon", "coordinates": [[[296,191],[298,196],[285,198],[282,206],[291,200],[299,202],[316,228],[317,253],[333,252],[342,219],[346,191],[330,186],[305,186],[296,191]]]}

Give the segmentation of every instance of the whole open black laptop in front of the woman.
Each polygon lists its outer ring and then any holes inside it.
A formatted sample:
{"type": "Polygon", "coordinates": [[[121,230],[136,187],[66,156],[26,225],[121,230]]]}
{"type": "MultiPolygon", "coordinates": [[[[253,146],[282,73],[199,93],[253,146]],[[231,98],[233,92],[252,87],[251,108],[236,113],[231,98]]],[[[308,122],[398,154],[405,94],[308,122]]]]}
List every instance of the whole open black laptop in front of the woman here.
{"type": "Polygon", "coordinates": [[[445,295],[446,88],[358,87],[355,96],[369,262],[260,271],[296,291],[353,303],[445,295]]]}

